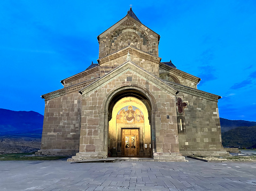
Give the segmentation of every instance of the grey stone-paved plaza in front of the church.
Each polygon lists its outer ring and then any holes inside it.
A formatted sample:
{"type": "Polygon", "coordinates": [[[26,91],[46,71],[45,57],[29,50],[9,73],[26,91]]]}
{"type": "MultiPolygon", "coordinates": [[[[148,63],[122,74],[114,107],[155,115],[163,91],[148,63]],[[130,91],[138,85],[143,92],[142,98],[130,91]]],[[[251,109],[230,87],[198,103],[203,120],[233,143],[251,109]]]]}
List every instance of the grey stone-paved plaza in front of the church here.
{"type": "Polygon", "coordinates": [[[0,161],[0,190],[256,190],[256,163],[0,161]]]}

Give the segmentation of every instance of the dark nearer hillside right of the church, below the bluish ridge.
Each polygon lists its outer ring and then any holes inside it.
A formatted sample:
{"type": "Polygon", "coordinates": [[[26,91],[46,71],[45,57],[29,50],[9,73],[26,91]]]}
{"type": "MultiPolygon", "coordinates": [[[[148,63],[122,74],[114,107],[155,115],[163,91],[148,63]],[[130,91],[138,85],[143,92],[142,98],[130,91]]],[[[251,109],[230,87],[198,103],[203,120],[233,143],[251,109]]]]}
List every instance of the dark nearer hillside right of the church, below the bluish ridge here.
{"type": "Polygon", "coordinates": [[[221,137],[223,146],[256,148],[256,126],[237,127],[222,132],[221,137]]]}

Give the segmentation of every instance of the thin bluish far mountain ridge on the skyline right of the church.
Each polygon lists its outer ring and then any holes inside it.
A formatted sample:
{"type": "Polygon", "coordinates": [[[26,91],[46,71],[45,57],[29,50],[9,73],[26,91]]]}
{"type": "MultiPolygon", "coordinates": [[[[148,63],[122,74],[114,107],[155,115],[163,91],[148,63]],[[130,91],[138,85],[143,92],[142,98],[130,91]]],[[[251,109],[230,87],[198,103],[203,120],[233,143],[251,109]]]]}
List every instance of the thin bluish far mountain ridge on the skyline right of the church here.
{"type": "Polygon", "coordinates": [[[255,121],[243,121],[243,120],[229,120],[220,118],[221,132],[225,132],[237,127],[252,127],[256,126],[255,121]]]}

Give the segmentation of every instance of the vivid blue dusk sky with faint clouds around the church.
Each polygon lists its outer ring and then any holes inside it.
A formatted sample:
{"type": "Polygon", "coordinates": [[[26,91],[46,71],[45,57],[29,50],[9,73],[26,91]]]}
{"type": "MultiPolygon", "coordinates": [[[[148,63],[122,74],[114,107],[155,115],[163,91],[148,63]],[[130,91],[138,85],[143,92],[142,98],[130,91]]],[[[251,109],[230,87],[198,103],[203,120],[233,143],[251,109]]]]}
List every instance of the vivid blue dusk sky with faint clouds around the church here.
{"type": "Polygon", "coordinates": [[[159,57],[222,96],[220,117],[256,121],[256,1],[1,1],[0,108],[44,113],[41,95],[98,59],[97,36],[133,11],[159,57]]]}

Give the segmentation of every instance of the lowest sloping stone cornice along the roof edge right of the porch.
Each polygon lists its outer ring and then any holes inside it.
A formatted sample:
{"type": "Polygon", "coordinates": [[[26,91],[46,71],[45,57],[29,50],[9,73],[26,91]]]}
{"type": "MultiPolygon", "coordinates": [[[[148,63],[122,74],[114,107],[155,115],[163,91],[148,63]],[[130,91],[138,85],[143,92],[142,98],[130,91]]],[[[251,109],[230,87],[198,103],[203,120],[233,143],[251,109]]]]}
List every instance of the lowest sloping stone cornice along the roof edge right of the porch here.
{"type": "Polygon", "coordinates": [[[180,84],[175,84],[174,82],[168,82],[168,81],[165,81],[165,82],[167,84],[169,84],[170,86],[173,86],[175,89],[179,90],[179,92],[187,93],[187,94],[190,94],[190,95],[195,95],[195,96],[202,97],[202,98],[214,101],[214,102],[218,102],[218,99],[221,98],[221,96],[211,94],[211,93],[208,93],[208,92],[204,92],[204,91],[194,89],[194,88],[191,88],[191,87],[183,86],[183,85],[180,85],[180,84]]]}

